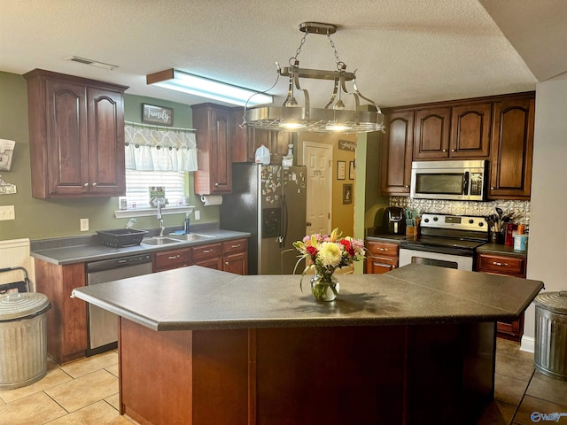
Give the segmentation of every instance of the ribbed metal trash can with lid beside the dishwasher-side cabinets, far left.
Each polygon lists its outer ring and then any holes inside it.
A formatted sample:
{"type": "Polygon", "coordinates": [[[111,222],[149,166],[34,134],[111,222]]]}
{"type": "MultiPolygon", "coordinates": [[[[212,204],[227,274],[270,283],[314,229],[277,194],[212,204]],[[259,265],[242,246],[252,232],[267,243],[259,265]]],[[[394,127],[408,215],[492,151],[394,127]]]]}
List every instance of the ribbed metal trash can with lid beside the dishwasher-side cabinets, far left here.
{"type": "Polygon", "coordinates": [[[35,383],[47,373],[47,297],[37,292],[0,297],[0,390],[35,383]]]}

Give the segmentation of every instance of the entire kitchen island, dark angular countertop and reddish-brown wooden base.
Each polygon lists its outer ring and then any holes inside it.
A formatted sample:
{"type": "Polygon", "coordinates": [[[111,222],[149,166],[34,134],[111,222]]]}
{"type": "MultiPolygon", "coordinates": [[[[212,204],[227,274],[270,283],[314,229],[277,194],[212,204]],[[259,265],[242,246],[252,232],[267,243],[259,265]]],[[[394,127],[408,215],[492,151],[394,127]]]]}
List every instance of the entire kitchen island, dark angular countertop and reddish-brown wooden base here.
{"type": "Polygon", "coordinates": [[[453,424],[493,399],[495,322],[543,287],[422,265],[339,277],[332,303],[297,275],[203,267],[73,295],[120,315],[120,413],[140,423],[453,424]]]}

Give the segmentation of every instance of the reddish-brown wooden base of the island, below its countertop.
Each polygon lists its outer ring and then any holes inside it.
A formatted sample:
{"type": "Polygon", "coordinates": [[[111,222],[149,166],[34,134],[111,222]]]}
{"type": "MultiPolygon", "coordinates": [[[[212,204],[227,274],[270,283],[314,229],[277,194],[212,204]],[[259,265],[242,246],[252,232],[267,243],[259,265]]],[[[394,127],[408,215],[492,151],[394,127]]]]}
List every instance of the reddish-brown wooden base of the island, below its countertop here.
{"type": "Polygon", "coordinates": [[[120,318],[120,413],[142,424],[476,423],[495,323],[157,332],[120,318]]]}

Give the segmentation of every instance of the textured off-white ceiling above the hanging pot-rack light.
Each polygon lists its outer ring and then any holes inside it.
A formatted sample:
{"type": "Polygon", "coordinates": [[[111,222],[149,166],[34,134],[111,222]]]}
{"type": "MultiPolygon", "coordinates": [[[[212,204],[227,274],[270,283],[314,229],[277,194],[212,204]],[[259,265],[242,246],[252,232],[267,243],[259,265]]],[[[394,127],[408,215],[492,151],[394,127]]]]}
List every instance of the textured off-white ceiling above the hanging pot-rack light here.
{"type": "MultiPolygon", "coordinates": [[[[565,34],[555,37],[562,42],[561,61],[545,58],[546,49],[537,44],[539,27],[553,39],[553,31],[564,33],[565,26],[555,25],[556,19],[553,26],[526,22],[533,4],[564,12],[567,2],[1,0],[0,71],[43,68],[194,104],[206,99],[147,86],[145,75],[174,67],[268,89],[276,81],[275,62],[287,66],[295,55],[303,35],[299,23],[319,21],[338,25],[332,40],[340,59],[347,71],[357,70],[359,89],[380,106],[512,93],[567,70],[565,34]],[[64,60],[71,55],[120,67],[108,71],[64,60]]],[[[564,17],[545,10],[540,15],[547,19],[564,17]]],[[[307,35],[299,60],[302,67],[335,69],[324,35],[307,35]]],[[[312,97],[327,100],[330,88],[318,86],[312,97]]],[[[280,79],[271,93],[283,96],[286,89],[280,79]]]]}

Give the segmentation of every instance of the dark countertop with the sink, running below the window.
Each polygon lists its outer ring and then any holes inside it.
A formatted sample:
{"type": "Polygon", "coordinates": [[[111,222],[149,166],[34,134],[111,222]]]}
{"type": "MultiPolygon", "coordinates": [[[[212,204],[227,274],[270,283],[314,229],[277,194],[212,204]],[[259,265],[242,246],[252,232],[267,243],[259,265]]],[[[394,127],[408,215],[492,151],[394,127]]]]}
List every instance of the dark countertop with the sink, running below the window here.
{"type": "MultiPolygon", "coordinates": [[[[117,259],[128,255],[167,251],[206,243],[219,243],[239,237],[250,237],[250,233],[247,232],[235,232],[219,228],[195,229],[194,232],[212,237],[191,242],[179,241],[178,243],[167,243],[163,245],[146,245],[141,243],[137,246],[128,246],[125,248],[110,248],[100,244],[96,235],[72,236],[32,241],[31,256],[35,259],[42,259],[48,263],[61,266],[98,261],[101,259],[117,259]]],[[[151,234],[149,235],[152,236],[151,234]]],[[[167,236],[167,233],[165,235],[167,236]]]]}

